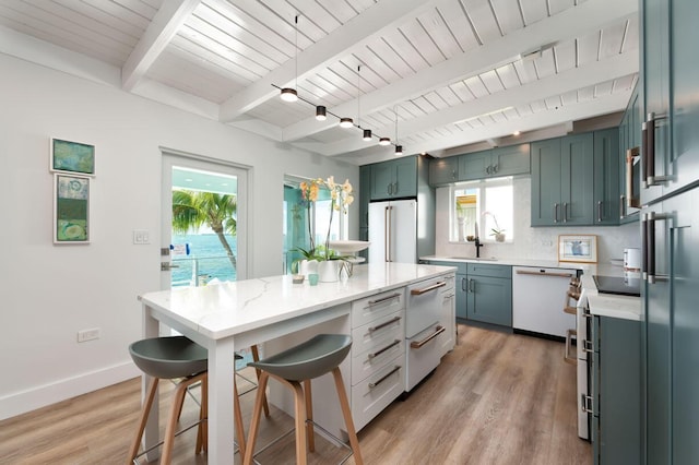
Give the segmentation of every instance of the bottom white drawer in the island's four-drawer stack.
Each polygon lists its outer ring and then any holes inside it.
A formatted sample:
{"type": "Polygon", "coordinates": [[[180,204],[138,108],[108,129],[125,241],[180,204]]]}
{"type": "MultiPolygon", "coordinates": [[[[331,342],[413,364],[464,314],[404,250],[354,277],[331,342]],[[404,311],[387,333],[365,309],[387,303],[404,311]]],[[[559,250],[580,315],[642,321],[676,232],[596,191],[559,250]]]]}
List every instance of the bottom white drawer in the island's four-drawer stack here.
{"type": "Polygon", "coordinates": [[[371,377],[352,386],[352,413],[357,431],[403,393],[404,363],[405,356],[399,355],[371,377]]]}

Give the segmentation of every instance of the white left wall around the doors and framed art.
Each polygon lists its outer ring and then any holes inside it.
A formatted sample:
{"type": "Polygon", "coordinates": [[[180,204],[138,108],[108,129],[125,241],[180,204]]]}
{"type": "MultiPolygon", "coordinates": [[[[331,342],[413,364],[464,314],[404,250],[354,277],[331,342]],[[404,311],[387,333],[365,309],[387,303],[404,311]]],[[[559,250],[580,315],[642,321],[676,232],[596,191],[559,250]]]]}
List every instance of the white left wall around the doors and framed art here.
{"type": "MultiPolygon", "coordinates": [[[[118,88],[0,53],[0,419],[137,375],[137,296],[159,286],[161,150],[250,170],[248,276],[281,273],[284,174],[350,178],[356,166],[293,150],[118,88]],[[49,138],[94,144],[91,240],[55,246],[49,138]],[[132,245],[132,230],[151,245],[132,245]],[[100,327],[97,341],[76,332],[100,327]]],[[[350,236],[357,237],[357,208],[350,236]]]]}

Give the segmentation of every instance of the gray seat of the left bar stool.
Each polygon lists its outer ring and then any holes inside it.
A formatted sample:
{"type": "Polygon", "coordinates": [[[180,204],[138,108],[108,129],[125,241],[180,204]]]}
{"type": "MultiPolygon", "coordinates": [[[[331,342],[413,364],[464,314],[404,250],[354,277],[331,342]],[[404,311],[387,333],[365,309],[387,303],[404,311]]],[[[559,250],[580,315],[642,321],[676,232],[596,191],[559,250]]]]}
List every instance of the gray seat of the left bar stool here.
{"type": "Polygon", "coordinates": [[[199,374],[208,368],[206,349],[185,336],[137,341],[129,353],[141,371],[165,380],[199,374]]]}

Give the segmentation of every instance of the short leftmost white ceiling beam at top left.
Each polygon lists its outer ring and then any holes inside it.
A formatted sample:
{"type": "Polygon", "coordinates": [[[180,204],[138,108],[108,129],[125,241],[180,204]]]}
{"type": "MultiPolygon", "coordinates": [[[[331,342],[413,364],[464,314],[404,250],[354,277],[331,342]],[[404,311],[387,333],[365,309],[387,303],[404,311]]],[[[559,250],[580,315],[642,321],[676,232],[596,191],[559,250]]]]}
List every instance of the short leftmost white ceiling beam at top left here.
{"type": "Polygon", "coordinates": [[[121,87],[131,91],[147,73],[201,0],[165,0],[121,69],[121,87]]]}

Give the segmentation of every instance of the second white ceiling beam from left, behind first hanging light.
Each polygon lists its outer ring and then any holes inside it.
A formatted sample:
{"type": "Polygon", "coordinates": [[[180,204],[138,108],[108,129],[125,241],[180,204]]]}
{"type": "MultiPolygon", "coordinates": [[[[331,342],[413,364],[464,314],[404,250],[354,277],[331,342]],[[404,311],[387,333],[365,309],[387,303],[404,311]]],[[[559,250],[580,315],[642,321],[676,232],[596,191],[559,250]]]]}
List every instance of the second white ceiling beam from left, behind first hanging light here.
{"type": "MultiPolygon", "coordinates": [[[[407,19],[414,17],[445,0],[382,0],[364,11],[359,16],[330,33],[322,40],[308,47],[294,60],[287,60],[281,67],[246,87],[222,104],[220,120],[229,122],[250,111],[265,100],[279,95],[272,85],[289,86],[295,79],[301,80],[313,74],[329,63],[335,62],[362,47],[386,31],[393,29],[407,19]],[[357,37],[362,37],[357,41],[357,37]],[[298,76],[295,75],[298,61],[298,76]]],[[[292,85],[293,86],[293,85],[292,85]]]]}

